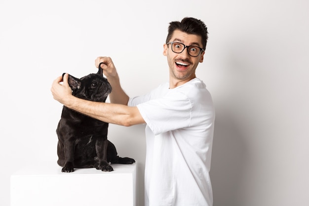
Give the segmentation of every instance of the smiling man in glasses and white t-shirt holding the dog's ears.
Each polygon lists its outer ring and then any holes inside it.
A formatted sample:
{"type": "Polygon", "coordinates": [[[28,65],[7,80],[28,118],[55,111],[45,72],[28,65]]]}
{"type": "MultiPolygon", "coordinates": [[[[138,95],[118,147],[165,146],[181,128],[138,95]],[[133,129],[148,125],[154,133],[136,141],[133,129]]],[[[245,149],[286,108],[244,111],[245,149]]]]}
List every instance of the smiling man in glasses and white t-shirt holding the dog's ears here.
{"type": "Polygon", "coordinates": [[[171,22],[163,50],[169,82],[144,96],[125,94],[109,57],[98,57],[95,65],[104,63],[101,67],[113,87],[111,103],[74,97],[67,75],[52,84],[54,99],[71,109],[112,124],[147,124],[145,206],[212,206],[209,170],[215,112],[205,84],[195,77],[207,34],[205,24],[195,18],[171,22]]]}

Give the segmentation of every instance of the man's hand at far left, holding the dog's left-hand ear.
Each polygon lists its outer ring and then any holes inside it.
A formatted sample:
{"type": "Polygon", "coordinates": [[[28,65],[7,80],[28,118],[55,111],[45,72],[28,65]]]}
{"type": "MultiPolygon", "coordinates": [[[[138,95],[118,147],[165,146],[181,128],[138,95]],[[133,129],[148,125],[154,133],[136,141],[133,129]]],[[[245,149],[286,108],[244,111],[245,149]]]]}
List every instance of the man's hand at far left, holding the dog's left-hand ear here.
{"type": "Polygon", "coordinates": [[[65,74],[62,80],[62,76],[54,80],[51,85],[51,93],[55,100],[67,105],[70,102],[70,98],[73,97],[72,89],[68,83],[69,75],[65,74]],[[62,84],[60,82],[63,82],[62,84]]]}

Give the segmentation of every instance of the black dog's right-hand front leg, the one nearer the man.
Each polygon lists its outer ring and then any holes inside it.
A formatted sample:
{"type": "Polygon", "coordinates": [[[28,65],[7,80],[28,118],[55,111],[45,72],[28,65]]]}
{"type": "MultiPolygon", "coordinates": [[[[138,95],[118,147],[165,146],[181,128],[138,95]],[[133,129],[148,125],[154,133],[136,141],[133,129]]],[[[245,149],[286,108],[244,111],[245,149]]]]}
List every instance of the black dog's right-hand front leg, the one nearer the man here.
{"type": "Polygon", "coordinates": [[[107,162],[107,139],[97,139],[95,143],[95,149],[98,156],[99,164],[96,166],[97,169],[102,171],[113,171],[113,167],[107,162]]]}

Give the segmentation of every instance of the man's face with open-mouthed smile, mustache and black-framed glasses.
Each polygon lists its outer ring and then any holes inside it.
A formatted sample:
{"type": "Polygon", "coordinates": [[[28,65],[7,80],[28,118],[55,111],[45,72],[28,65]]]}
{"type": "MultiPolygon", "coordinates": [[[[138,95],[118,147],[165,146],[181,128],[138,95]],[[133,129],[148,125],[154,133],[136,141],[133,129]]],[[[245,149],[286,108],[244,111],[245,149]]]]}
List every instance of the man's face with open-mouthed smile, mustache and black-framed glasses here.
{"type": "MultiPolygon", "coordinates": [[[[175,30],[170,41],[177,41],[185,45],[202,47],[201,37],[187,34],[180,30],[175,30]]],[[[188,48],[181,53],[172,51],[171,44],[164,44],[163,55],[167,56],[167,62],[170,72],[170,81],[172,82],[189,82],[195,78],[195,69],[199,62],[203,62],[204,51],[197,57],[188,54],[188,48]]]]}

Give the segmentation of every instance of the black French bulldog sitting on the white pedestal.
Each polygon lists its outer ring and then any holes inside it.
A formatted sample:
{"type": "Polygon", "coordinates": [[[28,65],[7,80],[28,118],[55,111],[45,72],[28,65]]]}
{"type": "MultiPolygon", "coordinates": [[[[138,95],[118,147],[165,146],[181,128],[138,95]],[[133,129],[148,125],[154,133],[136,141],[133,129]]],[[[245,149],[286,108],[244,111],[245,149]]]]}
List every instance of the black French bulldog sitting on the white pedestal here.
{"type": "MultiPolygon", "coordinates": [[[[112,91],[100,66],[97,74],[89,74],[81,79],[69,75],[69,85],[74,96],[96,102],[105,102],[112,91]]],[[[131,158],[117,156],[114,144],[107,140],[108,125],[63,106],[56,130],[59,158],[57,163],[63,167],[62,172],[92,167],[113,171],[109,163],[135,163],[131,158]]]]}

